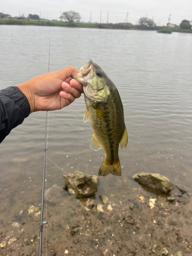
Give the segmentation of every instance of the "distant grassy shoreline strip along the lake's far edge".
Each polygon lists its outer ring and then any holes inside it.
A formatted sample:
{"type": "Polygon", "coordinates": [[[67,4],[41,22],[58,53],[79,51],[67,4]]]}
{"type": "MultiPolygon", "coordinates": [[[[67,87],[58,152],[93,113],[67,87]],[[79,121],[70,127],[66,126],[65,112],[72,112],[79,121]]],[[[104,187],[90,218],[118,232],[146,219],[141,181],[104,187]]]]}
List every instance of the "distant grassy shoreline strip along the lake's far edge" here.
{"type": "MultiPolygon", "coordinates": [[[[69,27],[69,28],[96,28],[96,29],[120,29],[120,30],[146,30],[157,31],[165,26],[146,27],[126,24],[99,24],[99,23],[68,23],[68,22],[50,22],[45,20],[16,20],[0,19],[0,25],[20,25],[20,26],[46,26],[46,27],[69,27]]],[[[192,30],[172,29],[172,32],[192,33],[192,30]]]]}

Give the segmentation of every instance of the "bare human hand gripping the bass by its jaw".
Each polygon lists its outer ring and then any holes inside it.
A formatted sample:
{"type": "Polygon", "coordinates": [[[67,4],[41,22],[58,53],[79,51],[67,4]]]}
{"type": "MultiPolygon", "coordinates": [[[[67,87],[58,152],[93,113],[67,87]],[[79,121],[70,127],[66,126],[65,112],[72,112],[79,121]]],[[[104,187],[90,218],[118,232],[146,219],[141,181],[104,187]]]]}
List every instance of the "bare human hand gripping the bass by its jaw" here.
{"type": "Polygon", "coordinates": [[[71,78],[77,73],[78,70],[70,66],[34,77],[17,87],[26,95],[31,113],[59,110],[71,104],[83,92],[82,84],[71,78]]]}

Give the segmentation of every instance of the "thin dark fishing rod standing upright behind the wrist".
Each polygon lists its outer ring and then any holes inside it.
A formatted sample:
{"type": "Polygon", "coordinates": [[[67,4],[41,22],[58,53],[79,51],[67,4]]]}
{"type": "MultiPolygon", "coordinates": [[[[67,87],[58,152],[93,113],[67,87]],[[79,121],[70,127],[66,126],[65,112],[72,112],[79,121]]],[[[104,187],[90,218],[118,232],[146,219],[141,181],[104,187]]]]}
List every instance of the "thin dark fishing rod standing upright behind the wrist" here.
{"type": "MultiPolygon", "coordinates": [[[[51,48],[51,39],[49,41],[49,64],[48,72],[50,66],[50,48],[51,48]]],[[[45,190],[45,173],[47,166],[47,136],[48,136],[48,111],[46,111],[46,129],[45,129],[45,146],[44,146],[44,167],[42,172],[42,194],[41,194],[41,209],[40,209],[40,227],[39,227],[39,256],[41,256],[42,249],[42,225],[47,224],[48,222],[42,221],[44,217],[44,190],[45,190]]],[[[47,217],[47,216],[46,216],[47,217]]]]}

